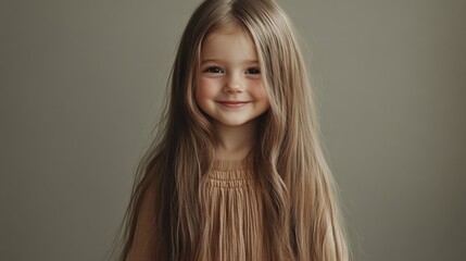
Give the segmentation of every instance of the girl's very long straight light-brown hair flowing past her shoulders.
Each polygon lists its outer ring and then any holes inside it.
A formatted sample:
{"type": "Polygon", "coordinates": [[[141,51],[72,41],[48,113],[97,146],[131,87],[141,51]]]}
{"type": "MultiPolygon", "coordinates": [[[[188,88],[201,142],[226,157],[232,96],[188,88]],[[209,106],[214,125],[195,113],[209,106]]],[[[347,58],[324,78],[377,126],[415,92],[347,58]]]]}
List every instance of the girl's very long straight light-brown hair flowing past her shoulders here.
{"type": "Polygon", "coordinates": [[[169,101],[140,161],[118,259],[127,260],[142,196],[153,189],[159,260],[197,260],[199,183],[212,166],[213,126],[194,101],[201,45],[235,24],[253,39],[270,108],[260,119],[253,173],[262,188],[265,244],[274,260],[349,260],[338,190],[319,144],[307,70],[285,12],[273,0],[205,0],[180,39],[169,101]]]}

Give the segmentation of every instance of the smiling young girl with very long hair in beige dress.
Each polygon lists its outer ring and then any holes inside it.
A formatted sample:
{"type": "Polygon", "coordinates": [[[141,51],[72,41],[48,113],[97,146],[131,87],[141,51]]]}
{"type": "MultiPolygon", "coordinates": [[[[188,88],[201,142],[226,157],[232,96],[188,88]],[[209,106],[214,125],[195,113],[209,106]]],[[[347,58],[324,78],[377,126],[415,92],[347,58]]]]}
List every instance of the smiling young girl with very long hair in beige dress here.
{"type": "Polygon", "coordinates": [[[306,72],[273,0],[203,1],[118,259],[349,260],[306,72]]]}

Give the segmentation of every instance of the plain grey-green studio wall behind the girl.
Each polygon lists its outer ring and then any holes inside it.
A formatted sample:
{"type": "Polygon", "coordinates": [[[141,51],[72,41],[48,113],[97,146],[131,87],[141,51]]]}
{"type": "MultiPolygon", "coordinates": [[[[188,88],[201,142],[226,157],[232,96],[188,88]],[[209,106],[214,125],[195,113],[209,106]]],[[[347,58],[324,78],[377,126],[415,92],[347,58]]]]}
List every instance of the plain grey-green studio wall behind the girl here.
{"type": "MultiPolygon", "coordinates": [[[[102,260],[198,1],[0,2],[0,259],[102,260]]],[[[466,3],[281,1],[355,260],[466,248],[466,3]]]]}

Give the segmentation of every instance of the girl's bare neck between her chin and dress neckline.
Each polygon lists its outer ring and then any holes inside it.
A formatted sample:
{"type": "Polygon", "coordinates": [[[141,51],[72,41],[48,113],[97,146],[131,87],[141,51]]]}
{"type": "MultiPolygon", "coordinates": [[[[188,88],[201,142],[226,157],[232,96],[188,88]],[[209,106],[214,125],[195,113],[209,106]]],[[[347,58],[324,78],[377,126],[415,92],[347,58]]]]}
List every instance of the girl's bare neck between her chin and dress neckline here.
{"type": "Polygon", "coordinates": [[[244,159],[254,144],[255,121],[240,126],[214,124],[215,127],[215,160],[236,161],[244,159]]]}

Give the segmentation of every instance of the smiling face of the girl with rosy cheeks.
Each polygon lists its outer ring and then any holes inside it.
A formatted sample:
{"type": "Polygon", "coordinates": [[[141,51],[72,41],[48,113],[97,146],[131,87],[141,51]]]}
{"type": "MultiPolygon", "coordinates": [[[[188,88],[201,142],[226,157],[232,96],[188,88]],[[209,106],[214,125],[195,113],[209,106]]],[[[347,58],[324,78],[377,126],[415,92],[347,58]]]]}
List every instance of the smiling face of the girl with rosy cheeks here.
{"type": "Polygon", "coordinates": [[[247,33],[228,26],[204,38],[196,101],[214,124],[230,127],[268,110],[257,53],[247,33]]]}

